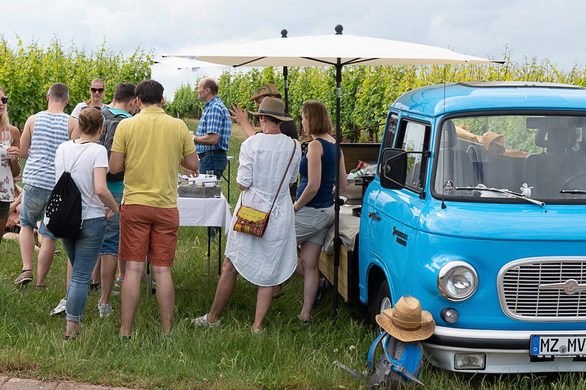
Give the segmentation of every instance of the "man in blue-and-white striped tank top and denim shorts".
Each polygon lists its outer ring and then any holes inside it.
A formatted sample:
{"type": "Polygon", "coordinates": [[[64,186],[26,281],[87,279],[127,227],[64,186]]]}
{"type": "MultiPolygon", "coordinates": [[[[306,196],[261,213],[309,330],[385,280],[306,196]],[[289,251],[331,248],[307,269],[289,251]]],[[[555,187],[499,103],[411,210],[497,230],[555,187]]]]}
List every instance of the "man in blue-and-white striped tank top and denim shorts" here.
{"type": "MultiPolygon", "coordinates": [[[[69,103],[69,89],[65,84],[55,83],[47,93],[46,111],[31,115],[24,125],[20,138],[20,157],[26,158],[22,174],[23,195],[20,210],[20,255],[22,272],[14,284],[22,286],[33,280],[34,230],[42,219],[45,206],[55,186],[55,152],[57,147],[71,137],[76,120],[63,112],[69,103]]],[[[55,253],[55,239],[41,222],[39,233],[43,235],[37,264],[37,287],[45,287],[45,276],[49,272],[55,253]]]]}

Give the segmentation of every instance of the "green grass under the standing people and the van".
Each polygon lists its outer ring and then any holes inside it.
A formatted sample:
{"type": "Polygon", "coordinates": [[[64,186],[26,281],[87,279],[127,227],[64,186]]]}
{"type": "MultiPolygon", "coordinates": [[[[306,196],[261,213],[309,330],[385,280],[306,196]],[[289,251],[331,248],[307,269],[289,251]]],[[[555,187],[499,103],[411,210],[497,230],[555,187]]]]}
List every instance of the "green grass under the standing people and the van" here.
{"type": "MultiPolygon", "coordinates": [[[[242,141],[238,135],[235,131],[229,154],[237,155],[242,141]]],[[[232,205],[238,192],[236,166],[235,162],[231,170],[232,205]]],[[[179,230],[171,336],[162,336],[156,300],[147,300],[143,291],[130,341],[117,337],[120,297],[113,297],[116,315],[100,319],[98,296],[93,294],[88,299],[81,336],[65,342],[64,317],[48,315],[65,294],[66,257],[61,244],[58,249],[47,278],[49,289],[35,291],[31,286],[15,288],[12,284],[21,268],[18,243],[0,244],[2,375],[161,389],[360,387],[332,362],[366,369],[366,354],[375,333],[363,322],[364,311],[341,305],[333,322],[330,293],[316,307],[312,326],[300,326],[296,314],[301,309],[303,287],[296,276],[285,283],[284,297],[273,302],[262,336],[250,333],[256,288],[242,279],[220,328],[199,329],[185,320],[209,309],[218,279],[217,245],[212,247],[211,273],[207,274],[205,228],[179,230]]],[[[421,379],[428,389],[586,389],[584,375],[579,374],[470,376],[429,364],[424,366],[421,379]]]]}

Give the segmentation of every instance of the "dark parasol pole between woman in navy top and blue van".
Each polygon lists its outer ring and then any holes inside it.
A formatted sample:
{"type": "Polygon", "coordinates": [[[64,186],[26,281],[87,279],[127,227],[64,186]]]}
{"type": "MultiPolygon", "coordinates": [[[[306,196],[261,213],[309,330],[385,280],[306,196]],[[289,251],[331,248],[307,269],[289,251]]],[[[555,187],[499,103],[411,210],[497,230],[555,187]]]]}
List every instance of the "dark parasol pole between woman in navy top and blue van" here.
{"type": "Polygon", "coordinates": [[[334,301],[332,318],[338,318],[338,267],[340,266],[340,142],[342,130],[340,126],[340,85],[342,83],[342,62],[336,62],[336,193],[334,199],[334,301]]]}

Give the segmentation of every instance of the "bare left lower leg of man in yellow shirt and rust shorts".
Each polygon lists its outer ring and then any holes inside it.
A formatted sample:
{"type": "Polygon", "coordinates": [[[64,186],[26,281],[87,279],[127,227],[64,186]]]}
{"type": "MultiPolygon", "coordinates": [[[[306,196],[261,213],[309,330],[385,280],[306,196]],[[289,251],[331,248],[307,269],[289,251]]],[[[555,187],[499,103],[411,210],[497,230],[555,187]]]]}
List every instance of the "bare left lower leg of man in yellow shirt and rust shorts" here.
{"type": "Polygon", "coordinates": [[[130,336],[132,331],[132,322],[136,307],[140,299],[140,281],[144,274],[145,263],[138,261],[126,262],[126,278],[122,285],[121,300],[122,300],[122,326],[120,334],[122,336],[130,336]]]}

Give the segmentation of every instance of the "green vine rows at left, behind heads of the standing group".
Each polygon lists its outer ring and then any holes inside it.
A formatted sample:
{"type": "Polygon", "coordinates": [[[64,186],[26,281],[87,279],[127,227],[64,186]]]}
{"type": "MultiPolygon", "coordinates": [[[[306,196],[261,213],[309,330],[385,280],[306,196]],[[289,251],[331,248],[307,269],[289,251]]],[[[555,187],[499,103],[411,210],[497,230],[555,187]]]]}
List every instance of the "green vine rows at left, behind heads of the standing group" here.
{"type": "Polygon", "coordinates": [[[95,51],[86,53],[77,47],[64,50],[54,38],[47,47],[36,42],[25,46],[19,40],[15,48],[0,36],[0,86],[10,96],[10,120],[22,128],[26,118],[47,107],[45,96],[51,84],[69,87],[66,112],[89,98],[89,85],[96,77],[104,79],[109,102],[120,82],[138,83],[150,78],[152,53],[137,48],[128,57],[106,47],[103,42],[95,51]]]}

